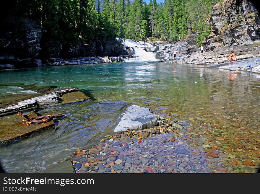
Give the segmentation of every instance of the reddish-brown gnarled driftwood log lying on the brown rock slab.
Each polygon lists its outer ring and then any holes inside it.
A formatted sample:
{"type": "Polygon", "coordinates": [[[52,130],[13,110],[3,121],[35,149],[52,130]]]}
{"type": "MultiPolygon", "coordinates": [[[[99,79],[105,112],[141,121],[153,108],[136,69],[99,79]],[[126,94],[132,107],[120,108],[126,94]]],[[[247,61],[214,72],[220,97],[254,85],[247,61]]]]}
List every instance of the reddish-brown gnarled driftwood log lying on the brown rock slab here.
{"type": "Polygon", "coordinates": [[[34,117],[29,118],[24,113],[19,113],[18,112],[16,114],[19,115],[19,116],[24,117],[25,119],[22,119],[21,121],[24,122],[24,123],[27,123],[28,125],[30,125],[30,124],[47,123],[47,122],[53,120],[53,118],[66,116],[66,115],[63,115],[63,114],[57,114],[57,115],[45,115],[45,116],[39,116],[39,117],[36,117],[36,118],[34,118],[34,117]]]}

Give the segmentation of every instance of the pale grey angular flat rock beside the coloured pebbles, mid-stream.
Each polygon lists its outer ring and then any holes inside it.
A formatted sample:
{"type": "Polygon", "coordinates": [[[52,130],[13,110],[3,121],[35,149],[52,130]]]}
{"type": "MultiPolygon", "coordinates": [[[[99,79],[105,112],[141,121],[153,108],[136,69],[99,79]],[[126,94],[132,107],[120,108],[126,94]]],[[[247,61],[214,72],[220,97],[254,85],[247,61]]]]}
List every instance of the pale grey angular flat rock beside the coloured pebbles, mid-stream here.
{"type": "Polygon", "coordinates": [[[152,114],[149,108],[132,105],[126,108],[121,121],[118,123],[115,132],[127,131],[128,129],[145,129],[157,125],[158,115],[152,114]]]}

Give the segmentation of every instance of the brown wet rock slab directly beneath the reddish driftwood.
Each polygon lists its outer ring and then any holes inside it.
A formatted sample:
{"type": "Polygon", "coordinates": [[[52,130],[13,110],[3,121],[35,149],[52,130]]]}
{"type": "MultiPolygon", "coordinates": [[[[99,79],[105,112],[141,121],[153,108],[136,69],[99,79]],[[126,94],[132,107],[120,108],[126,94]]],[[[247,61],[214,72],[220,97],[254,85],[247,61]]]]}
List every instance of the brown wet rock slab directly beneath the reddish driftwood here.
{"type": "MultiPolygon", "coordinates": [[[[31,113],[28,114],[28,116],[35,117],[37,115],[35,113],[31,113]]],[[[19,115],[10,115],[0,119],[0,143],[5,143],[20,136],[29,135],[34,131],[45,130],[54,127],[53,120],[47,123],[26,125],[26,123],[22,123],[20,121],[21,119],[22,117],[19,115]]]]}

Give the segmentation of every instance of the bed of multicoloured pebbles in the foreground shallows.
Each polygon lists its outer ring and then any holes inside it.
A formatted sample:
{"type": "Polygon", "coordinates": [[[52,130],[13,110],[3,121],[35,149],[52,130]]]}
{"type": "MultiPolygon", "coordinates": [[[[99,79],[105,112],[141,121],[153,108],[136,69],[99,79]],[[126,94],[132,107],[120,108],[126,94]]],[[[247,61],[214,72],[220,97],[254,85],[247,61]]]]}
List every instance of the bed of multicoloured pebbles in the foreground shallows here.
{"type": "Polygon", "coordinates": [[[72,157],[76,173],[255,173],[260,166],[257,133],[231,137],[218,121],[179,120],[174,113],[150,129],[106,136],[72,157]]]}

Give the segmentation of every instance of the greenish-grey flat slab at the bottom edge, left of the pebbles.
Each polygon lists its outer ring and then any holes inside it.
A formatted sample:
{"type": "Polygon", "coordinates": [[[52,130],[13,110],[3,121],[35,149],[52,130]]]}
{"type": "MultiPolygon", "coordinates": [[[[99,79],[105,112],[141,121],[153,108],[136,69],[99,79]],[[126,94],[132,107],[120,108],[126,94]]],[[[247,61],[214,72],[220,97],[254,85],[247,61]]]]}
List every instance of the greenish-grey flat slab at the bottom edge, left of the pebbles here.
{"type": "Polygon", "coordinates": [[[59,162],[45,170],[41,173],[75,173],[74,168],[72,167],[71,161],[66,160],[64,162],[59,162]]]}

